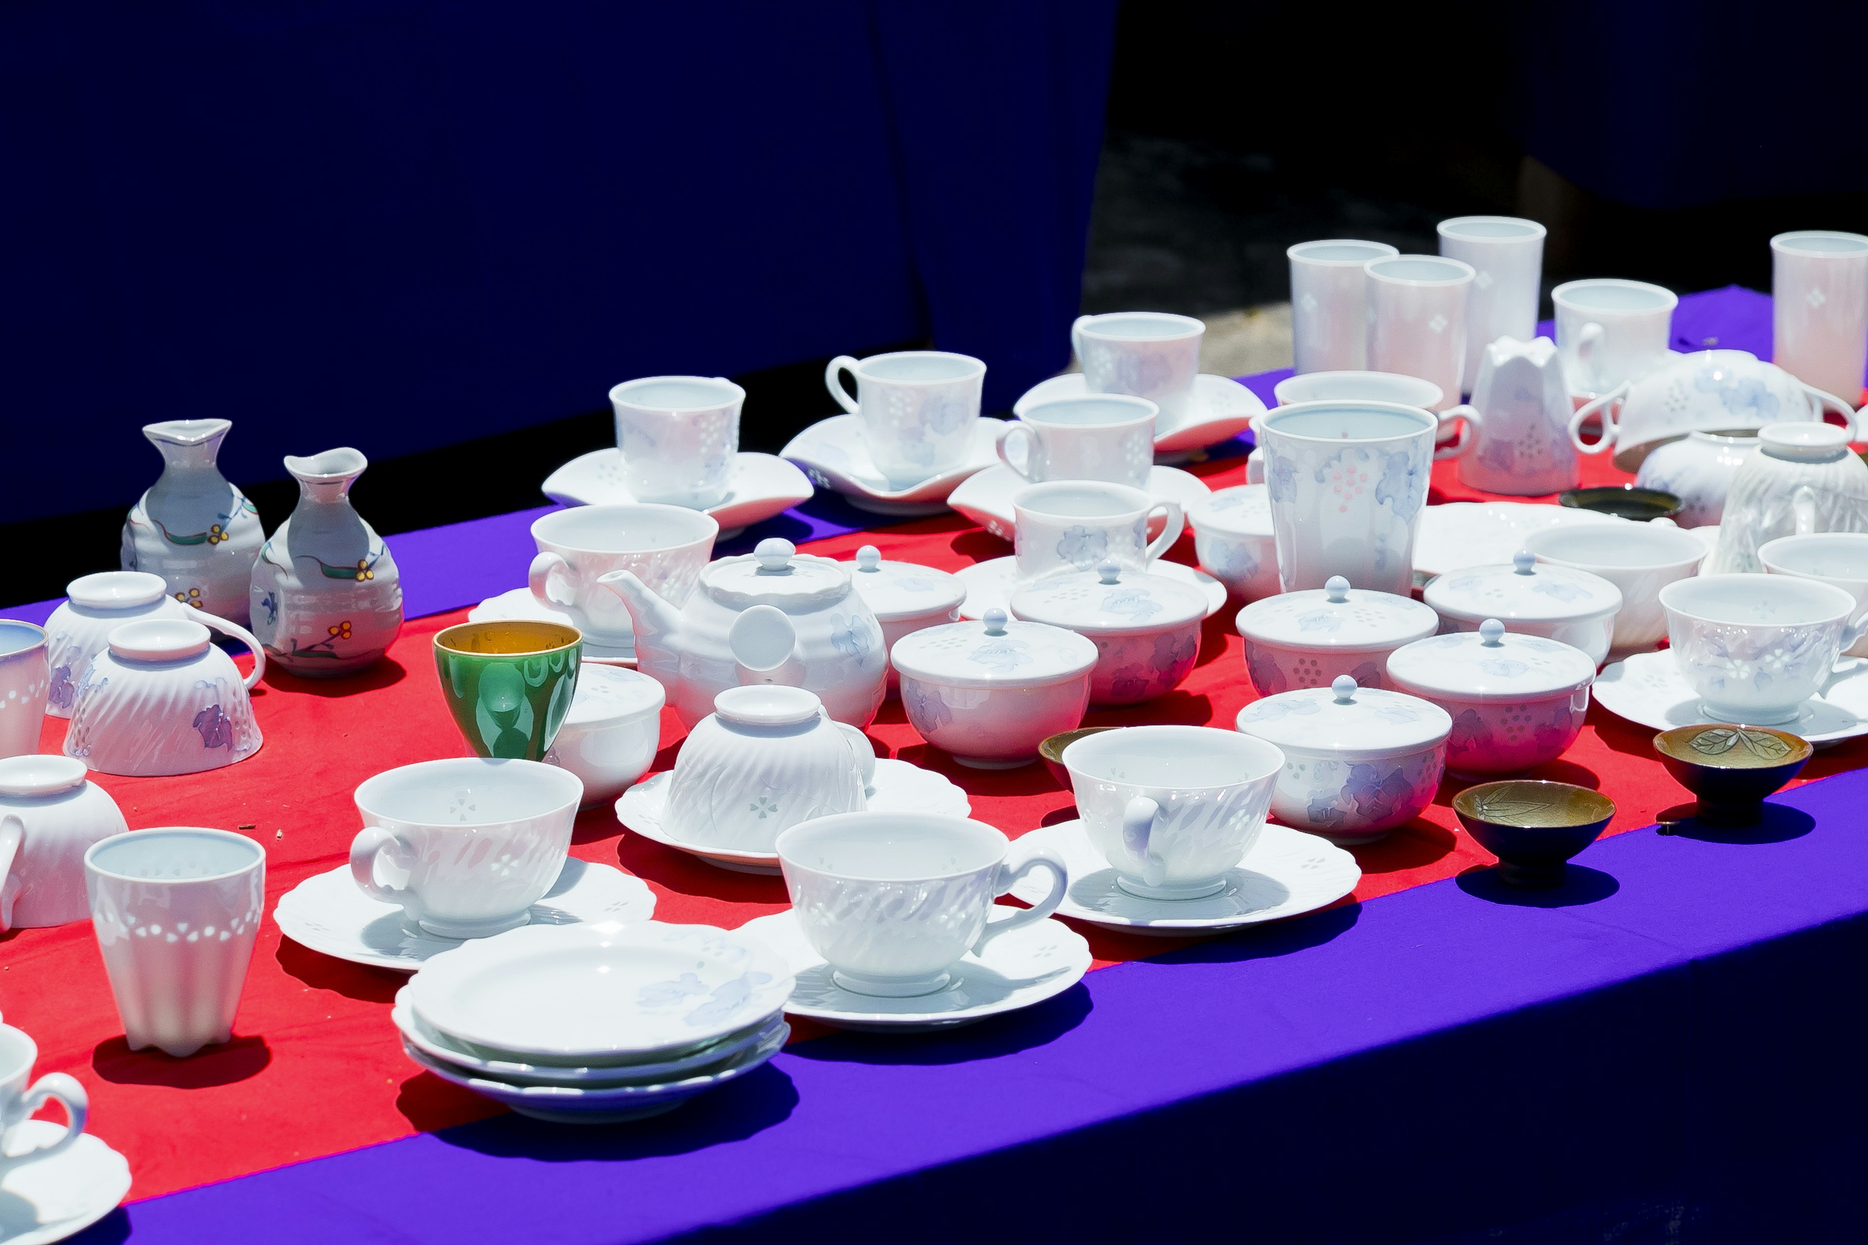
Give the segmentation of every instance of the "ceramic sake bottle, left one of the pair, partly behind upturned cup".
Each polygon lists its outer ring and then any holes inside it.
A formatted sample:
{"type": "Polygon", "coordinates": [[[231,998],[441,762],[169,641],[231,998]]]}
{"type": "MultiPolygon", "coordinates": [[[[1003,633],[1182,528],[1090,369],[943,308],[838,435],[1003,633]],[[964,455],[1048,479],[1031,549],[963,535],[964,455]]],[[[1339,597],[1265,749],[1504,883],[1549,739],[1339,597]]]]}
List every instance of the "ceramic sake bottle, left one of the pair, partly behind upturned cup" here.
{"type": "Polygon", "coordinates": [[[183,605],[247,622],[247,582],[265,541],[260,510],[228,483],[215,459],[228,420],[144,424],[163,452],[163,474],[123,523],[123,569],[153,571],[183,605]]]}

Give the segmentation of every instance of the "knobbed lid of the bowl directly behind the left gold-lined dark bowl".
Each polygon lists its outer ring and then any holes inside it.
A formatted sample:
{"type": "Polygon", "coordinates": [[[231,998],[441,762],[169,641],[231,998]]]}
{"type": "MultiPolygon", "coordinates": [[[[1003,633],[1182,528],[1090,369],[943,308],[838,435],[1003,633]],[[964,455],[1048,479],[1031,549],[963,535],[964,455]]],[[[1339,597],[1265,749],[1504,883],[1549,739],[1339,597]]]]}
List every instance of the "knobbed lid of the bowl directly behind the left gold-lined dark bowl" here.
{"type": "Polygon", "coordinates": [[[1478,631],[1414,640],[1388,655],[1388,678],[1422,696],[1535,700],[1588,687],[1595,663],[1580,648],[1513,635],[1496,618],[1478,631]]]}

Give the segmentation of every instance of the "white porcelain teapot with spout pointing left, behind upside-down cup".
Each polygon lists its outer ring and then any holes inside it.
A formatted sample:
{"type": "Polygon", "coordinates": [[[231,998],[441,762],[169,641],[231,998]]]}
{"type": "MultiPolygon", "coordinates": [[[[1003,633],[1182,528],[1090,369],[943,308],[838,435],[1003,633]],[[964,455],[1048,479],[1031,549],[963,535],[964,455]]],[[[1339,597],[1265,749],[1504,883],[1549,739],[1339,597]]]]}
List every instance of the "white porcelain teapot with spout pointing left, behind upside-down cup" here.
{"type": "Polygon", "coordinates": [[[714,696],[742,683],[803,687],[850,726],[867,726],[882,707],[889,653],[844,562],[801,554],[788,539],[762,539],[751,554],[708,564],[680,609],[633,571],[611,571],[598,582],[630,610],[635,668],[667,689],[689,728],[714,711],[714,696]],[[742,663],[729,636],[755,605],[783,612],[790,629],[773,629],[758,659],[742,663]]]}

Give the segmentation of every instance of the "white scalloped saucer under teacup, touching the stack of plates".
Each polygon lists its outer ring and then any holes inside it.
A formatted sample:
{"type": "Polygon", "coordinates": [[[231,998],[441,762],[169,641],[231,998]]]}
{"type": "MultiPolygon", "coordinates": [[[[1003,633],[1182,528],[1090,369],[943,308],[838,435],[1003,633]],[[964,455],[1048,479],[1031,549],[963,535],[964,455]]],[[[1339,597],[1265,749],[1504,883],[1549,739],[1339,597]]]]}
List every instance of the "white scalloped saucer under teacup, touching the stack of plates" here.
{"type": "MultiPolygon", "coordinates": [[[[1040,875],[1048,879],[1050,870],[1040,870],[1040,875]]],[[[1003,903],[992,905],[994,918],[1018,911],[1003,903]]],[[[870,1032],[955,1028],[1018,1012],[1070,989],[1083,980],[1091,963],[1089,943],[1082,933],[1061,920],[1039,920],[992,939],[984,956],[968,952],[951,969],[953,980],[945,989],[913,999],[882,999],[839,986],[805,937],[796,913],[758,916],[740,930],[775,950],[798,978],[785,1002],[788,1015],[809,1015],[835,1028],[870,1032]]]]}

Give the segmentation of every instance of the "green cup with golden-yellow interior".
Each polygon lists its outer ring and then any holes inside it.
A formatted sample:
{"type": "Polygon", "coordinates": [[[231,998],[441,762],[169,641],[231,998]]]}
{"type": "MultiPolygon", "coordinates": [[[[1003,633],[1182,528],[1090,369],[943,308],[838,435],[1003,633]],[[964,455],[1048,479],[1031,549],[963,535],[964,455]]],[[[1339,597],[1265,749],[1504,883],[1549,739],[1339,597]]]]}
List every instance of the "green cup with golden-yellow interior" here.
{"type": "Polygon", "coordinates": [[[583,633],[549,622],[484,622],[435,636],[454,724],[480,756],[544,760],[577,691],[583,633]]]}

